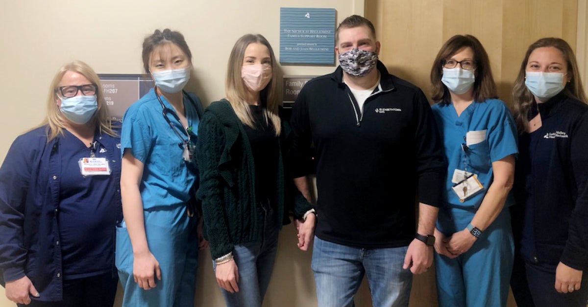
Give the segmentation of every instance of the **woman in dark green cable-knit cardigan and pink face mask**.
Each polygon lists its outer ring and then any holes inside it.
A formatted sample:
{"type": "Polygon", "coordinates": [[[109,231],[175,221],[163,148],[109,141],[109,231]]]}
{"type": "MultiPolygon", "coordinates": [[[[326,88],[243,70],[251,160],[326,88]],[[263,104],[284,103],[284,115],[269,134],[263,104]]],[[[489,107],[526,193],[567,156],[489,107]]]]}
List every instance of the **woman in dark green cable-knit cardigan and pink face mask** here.
{"type": "MultiPolygon", "coordinates": [[[[278,231],[289,222],[285,203],[294,198],[285,188],[291,181],[283,164],[286,131],[278,116],[276,69],[262,35],[239,38],[229,56],[226,99],[206,109],[199,127],[198,194],[216,282],[231,307],[262,305],[278,231]]],[[[300,234],[306,234],[298,246],[306,250],[315,215],[297,196],[293,209],[305,220],[300,234]]]]}

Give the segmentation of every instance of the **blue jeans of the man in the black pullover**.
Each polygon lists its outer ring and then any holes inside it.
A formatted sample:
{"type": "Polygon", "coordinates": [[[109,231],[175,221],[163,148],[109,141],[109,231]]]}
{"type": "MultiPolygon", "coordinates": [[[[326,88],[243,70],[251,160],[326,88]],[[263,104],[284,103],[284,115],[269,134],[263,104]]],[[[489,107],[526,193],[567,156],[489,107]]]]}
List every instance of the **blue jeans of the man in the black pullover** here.
{"type": "Polygon", "coordinates": [[[412,273],[402,269],[407,249],[348,247],[315,237],[312,271],[318,306],[353,306],[364,274],[373,306],[408,306],[412,273]]]}

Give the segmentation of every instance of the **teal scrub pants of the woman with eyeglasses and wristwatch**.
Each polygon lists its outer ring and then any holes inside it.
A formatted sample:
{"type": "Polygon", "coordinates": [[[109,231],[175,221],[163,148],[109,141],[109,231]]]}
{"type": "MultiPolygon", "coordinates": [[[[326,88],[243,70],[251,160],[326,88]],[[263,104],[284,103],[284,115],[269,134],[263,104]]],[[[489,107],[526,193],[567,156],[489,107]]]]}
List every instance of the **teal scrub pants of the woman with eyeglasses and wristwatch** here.
{"type": "MultiPolygon", "coordinates": [[[[449,236],[466,228],[474,214],[440,210],[437,228],[449,236]]],[[[504,208],[465,253],[453,259],[435,253],[439,306],[506,306],[514,249],[510,211],[504,208]]]]}

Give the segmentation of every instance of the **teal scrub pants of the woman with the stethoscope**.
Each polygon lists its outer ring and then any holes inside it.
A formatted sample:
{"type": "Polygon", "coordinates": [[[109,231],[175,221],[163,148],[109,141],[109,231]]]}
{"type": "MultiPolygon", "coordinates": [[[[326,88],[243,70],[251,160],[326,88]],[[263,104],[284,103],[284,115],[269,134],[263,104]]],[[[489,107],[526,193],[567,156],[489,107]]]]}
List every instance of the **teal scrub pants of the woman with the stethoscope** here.
{"type": "Polygon", "coordinates": [[[116,268],[124,296],[122,306],[193,306],[198,265],[196,218],[186,206],[145,211],[149,250],[159,262],[161,281],[144,290],[133,279],[133,249],[125,227],[116,228],[116,268]]]}

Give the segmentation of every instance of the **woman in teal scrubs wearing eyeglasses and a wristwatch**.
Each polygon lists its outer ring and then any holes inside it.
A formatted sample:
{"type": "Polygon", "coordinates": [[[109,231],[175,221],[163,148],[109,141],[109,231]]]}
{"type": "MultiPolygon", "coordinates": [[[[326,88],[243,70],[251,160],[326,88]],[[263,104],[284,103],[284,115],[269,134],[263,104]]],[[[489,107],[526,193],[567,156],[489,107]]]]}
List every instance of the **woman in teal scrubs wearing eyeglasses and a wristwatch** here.
{"type": "Polygon", "coordinates": [[[513,264],[516,127],[496,99],[490,60],[472,35],[442,46],[432,106],[447,159],[445,205],[435,229],[439,306],[506,306],[513,264]]]}

